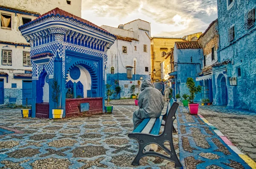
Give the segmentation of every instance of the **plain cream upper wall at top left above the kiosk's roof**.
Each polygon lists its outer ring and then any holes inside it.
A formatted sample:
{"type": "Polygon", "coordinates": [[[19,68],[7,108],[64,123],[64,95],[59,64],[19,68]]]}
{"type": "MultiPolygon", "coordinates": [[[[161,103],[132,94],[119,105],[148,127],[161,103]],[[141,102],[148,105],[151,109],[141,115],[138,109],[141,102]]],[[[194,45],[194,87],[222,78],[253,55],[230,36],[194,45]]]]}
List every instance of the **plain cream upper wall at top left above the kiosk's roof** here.
{"type": "Polygon", "coordinates": [[[81,17],[81,0],[70,0],[71,4],[67,4],[67,0],[0,0],[1,6],[22,9],[26,11],[36,11],[44,14],[56,7],[81,17]]]}

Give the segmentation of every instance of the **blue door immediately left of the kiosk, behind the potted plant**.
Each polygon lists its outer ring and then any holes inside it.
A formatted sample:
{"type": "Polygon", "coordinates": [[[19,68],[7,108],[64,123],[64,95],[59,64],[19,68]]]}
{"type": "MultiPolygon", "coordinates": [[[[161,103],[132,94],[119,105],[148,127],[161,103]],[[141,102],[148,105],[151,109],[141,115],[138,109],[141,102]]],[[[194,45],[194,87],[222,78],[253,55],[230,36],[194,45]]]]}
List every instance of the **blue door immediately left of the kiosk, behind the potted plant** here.
{"type": "Polygon", "coordinates": [[[23,80],[22,82],[22,105],[31,106],[32,103],[32,80],[23,80]]]}

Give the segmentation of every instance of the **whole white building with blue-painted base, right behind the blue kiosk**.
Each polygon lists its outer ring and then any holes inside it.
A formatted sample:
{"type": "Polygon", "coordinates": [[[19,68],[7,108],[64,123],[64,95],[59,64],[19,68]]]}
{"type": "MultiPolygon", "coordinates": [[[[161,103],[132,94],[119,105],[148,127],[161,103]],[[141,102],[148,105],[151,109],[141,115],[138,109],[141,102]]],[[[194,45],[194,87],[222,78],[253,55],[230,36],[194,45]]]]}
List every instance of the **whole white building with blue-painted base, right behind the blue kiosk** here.
{"type": "Polygon", "coordinates": [[[132,85],[136,85],[137,93],[142,80],[150,80],[150,23],[137,19],[118,28],[101,27],[116,35],[115,43],[107,52],[105,82],[111,84],[113,90],[116,86],[122,89],[119,95],[112,95],[113,99],[131,97],[132,85]]]}

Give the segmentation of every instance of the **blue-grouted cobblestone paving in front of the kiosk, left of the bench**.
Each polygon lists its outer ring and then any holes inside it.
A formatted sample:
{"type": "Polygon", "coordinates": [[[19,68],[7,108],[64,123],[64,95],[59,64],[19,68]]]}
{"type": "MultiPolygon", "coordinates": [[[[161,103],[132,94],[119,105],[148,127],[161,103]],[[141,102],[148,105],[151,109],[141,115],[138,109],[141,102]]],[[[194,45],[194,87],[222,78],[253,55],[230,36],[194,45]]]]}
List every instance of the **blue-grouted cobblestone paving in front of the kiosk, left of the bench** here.
{"type": "MultiPolygon", "coordinates": [[[[0,126],[23,132],[0,136],[0,168],[172,169],[174,163],[158,157],[144,157],[140,166],[131,166],[138,143],[127,134],[133,130],[132,113],[138,107],[131,99],[112,103],[111,115],[63,120],[21,118],[20,109],[0,109],[0,126]]],[[[177,134],[174,144],[178,153],[177,134]]]]}

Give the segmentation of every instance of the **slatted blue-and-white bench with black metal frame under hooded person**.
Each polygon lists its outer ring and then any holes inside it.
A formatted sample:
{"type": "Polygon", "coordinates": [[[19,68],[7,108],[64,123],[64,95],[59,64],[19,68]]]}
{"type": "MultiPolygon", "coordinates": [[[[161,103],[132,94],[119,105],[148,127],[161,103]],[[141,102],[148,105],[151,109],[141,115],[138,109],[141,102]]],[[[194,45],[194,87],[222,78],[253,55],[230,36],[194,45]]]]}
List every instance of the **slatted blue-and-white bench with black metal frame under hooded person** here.
{"type": "Polygon", "coordinates": [[[128,137],[136,139],[139,143],[139,152],[131,163],[132,165],[139,165],[140,158],[153,155],[174,162],[175,168],[183,168],[180,160],[177,158],[172,142],[173,121],[176,119],[175,113],[179,104],[175,102],[173,98],[171,100],[169,102],[169,105],[167,106],[167,111],[165,115],[161,115],[159,118],[144,119],[140,123],[140,125],[136,129],[134,129],[133,132],[128,134],[128,137]],[[164,130],[163,133],[159,135],[163,119],[165,119],[164,130]],[[167,149],[164,146],[164,142],[166,141],[170,143],[171,150],[167,149]],[[144,147],[152,143],[160,146],[170,156],[166,156],[158,152],[144,152],[144,147]]]}

